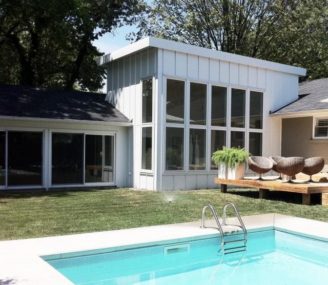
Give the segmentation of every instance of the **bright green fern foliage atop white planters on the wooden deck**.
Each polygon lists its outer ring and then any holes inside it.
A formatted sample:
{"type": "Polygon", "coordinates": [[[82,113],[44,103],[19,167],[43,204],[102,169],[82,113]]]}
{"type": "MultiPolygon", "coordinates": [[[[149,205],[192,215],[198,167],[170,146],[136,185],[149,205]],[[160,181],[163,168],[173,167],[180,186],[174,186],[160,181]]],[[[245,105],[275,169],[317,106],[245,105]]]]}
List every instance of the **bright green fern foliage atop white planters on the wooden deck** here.
{"type": "Polygon", "coordinates": [[[241,148],[230,148],[223,147],[222,150],[217,150],[212,155],[212,160],[215,165],[218,166],[223,164],[227,167],[234,167],[235,164],[243,164],[250,157],[250,153],[241,148]]]}

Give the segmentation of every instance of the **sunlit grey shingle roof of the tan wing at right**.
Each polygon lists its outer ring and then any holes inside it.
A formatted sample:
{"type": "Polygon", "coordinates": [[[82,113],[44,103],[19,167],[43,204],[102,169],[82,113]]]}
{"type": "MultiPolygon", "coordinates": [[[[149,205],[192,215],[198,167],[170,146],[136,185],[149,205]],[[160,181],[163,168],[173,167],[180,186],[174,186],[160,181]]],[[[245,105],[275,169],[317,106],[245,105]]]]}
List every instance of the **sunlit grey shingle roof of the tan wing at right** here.
{"type": "Polygon", "coordinates": [[[298,87],[299,99],[272,112],[273,114],[328,109],[328,78],[302,82],[298,87]]]}

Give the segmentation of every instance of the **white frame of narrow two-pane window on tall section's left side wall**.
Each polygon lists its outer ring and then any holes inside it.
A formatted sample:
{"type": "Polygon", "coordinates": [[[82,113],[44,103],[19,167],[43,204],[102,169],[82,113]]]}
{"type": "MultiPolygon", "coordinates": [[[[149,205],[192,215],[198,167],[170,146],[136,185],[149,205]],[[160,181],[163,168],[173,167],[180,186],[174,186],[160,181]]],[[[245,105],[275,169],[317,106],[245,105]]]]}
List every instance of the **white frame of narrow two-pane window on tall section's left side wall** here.
{"type": "Polygon", "coordinates": [[[154,75],[149,75],[145,77],[140,78],[140,103],[141,103],[141,112],[140,112],[140,139],[139,139],[139,144],[140,144],[140,163],[139,163],[139,173],[145,173],[145,174],[154,174],[154,136],[155,136],[155,76],[154,75]],[[152,79],[152,121],[150,123],[142,123],[142,82],[145,80],[152,79]],[[151,169],[143,169],[142,168],[142,128],[147,128],[151,127],[152,128],[152,166],[151,169]]]}

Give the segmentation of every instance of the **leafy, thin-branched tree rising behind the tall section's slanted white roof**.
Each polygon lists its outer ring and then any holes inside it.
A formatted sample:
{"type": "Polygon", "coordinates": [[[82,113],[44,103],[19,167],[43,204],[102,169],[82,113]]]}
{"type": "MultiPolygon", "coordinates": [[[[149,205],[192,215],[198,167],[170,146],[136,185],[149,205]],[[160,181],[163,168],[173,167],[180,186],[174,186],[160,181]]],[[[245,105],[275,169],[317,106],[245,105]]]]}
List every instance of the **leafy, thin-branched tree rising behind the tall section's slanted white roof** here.
{"type": "Polygon", "coordinates": [[[155,0],[138,39],[153,35],[308,69],[328,77],[326,0],[155,0]]]}

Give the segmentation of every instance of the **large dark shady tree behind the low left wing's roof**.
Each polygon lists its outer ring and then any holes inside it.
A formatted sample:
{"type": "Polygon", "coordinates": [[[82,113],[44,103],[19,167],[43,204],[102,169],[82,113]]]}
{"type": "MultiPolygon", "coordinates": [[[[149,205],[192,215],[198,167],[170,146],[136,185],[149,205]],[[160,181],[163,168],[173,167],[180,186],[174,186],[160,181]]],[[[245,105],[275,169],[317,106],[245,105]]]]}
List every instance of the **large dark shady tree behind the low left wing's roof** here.
{"type": "Polygon", "coordinates": [[[138,0],[0,0],[0,82],[101,88],[106,70],[93,41],[141,9],[138,0]]]}

